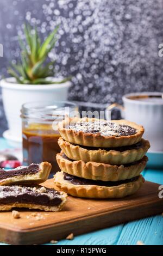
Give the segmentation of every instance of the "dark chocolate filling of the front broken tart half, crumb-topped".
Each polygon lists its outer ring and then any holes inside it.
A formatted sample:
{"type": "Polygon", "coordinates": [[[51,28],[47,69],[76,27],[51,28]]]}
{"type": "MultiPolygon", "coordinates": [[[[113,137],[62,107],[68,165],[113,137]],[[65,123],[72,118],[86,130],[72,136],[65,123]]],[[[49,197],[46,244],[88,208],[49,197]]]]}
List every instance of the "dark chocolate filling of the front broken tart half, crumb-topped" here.
{"type": "Polygon", "coordinates": [[[62,202],[60,193],[41,186],[0,186],[0,204],[22,203],[57,206],[62,202]]]}

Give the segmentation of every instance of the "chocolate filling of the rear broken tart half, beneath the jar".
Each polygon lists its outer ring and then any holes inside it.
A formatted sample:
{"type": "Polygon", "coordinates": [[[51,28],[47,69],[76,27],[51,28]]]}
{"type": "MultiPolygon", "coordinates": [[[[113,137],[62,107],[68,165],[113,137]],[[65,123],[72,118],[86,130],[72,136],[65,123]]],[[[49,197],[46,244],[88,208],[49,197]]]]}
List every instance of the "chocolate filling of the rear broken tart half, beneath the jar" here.
{"type": "Polygon", "coordinates": [[[20,166],[8,171],[0,169],[0,180],[12,178],[14,176],[36,174],[39,170],[39,164],[36,163],[30,164],[30,166],[20,166]]]}

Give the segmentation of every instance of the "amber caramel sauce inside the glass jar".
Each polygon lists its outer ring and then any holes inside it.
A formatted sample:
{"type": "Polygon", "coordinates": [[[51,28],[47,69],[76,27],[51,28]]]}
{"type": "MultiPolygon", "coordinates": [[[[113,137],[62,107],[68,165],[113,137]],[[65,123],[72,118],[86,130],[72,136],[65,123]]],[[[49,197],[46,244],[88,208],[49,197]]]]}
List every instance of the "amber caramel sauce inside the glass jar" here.
{"type": "Polygon", "coordinates": [[[56,155],[60,153],[58,145],[59,133],[52,130],[51,126],[41,126],[37,129],[23,130],[23,164],[41,163],[47,161],[52,164],[52,172],[59,169],[56,155]],[[48,129],[49,128],[49,129],[48,129]]]}

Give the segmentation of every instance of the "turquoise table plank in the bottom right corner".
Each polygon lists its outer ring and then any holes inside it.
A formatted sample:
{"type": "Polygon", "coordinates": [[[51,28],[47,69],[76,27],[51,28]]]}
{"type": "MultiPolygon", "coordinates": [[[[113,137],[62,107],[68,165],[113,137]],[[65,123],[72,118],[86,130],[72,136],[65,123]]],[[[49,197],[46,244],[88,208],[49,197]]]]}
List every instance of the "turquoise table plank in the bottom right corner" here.
{"type": "Polygon", "coordinates": [[[163,245],[163,217],[154,216],[124,225],[117,245],[163,245]]]}

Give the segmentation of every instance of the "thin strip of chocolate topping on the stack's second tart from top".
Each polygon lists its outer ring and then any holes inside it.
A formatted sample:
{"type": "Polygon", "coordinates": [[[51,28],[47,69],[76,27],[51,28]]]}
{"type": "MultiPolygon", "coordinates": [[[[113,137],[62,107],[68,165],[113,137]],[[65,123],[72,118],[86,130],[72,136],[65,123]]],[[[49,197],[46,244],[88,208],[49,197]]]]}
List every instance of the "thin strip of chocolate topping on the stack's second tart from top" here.
{"type": "MultiPolygon", "coordinates": [[[[73,144],[73,145],[76,145],[76,144],[73,144]]],[[[104,149],[106,151],[115,150],[115,151],[119,151],[119,152],[123,152],[123,151],[126,151],[126,150],[131,150],[131,149],[140,149],[142,147],[143,147],[142,141],[137,142],[136,144],[133,144],[133,145],[123,146],[123,147],[118,147],[118,148],[95,148],[95,147],[86,147],[86,146],[80,145],[80,148],[84,148],[84,149],[87,149],[87,150],[98,150],[98,149],[103,150],[104,149]]]]}

